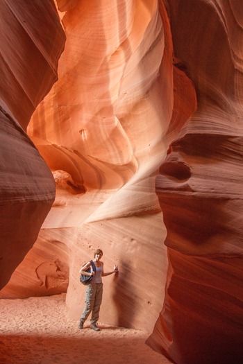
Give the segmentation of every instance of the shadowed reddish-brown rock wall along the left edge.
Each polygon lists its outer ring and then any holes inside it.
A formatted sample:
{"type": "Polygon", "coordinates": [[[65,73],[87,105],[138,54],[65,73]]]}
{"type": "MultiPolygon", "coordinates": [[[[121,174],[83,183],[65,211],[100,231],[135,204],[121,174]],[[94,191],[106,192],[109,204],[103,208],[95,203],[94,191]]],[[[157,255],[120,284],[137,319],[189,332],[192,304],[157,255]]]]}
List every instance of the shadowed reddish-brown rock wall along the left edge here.
{"type": "MultiPolygon", "coordinates": [[[[51,1],[1,1],[0,12],[2,288],[35,243],[55,198],[53,175],[26,135],[26,126],[57,79],[65,34],[51,1]]],[[[24,286],[23,281],[19,284],[24,286]]]]}

